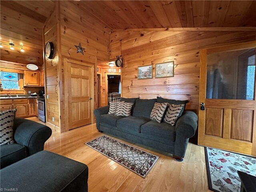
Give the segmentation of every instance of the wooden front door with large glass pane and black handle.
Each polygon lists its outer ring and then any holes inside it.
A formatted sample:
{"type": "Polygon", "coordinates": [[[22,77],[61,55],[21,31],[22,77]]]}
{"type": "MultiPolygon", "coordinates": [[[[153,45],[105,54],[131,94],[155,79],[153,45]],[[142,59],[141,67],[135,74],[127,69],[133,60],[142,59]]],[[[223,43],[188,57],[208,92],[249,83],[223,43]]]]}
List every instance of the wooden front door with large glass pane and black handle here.
{"type": "Polygon", "coordinates": [[[256,156],[255,48],[229,48],[200,53],[198,144],[256,156]]]}

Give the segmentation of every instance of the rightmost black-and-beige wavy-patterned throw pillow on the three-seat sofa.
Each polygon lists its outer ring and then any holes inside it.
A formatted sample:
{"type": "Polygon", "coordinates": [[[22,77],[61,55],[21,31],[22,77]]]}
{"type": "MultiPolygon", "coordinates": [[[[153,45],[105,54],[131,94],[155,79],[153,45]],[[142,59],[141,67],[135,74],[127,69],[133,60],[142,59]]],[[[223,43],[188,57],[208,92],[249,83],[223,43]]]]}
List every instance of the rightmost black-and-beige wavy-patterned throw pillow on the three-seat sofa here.
{"type": "Polygon", "coordinates": [[[180,116],[181,110],[184,107],[184,104],[175,105],[175,104],[168,104],[167,111],[164,116],[164,122],[174,126],[178,117],[180,116]]]}

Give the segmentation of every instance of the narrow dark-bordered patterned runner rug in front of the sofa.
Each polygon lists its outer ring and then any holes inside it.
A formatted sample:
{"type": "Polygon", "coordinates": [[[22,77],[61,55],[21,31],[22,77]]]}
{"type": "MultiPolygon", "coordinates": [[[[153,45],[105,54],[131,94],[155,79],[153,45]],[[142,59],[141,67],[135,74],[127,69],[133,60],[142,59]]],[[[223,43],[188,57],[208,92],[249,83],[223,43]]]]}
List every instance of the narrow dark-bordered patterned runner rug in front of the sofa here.
{"type": "Polygon", "coordinates": [[[105,135],[85,144],[143,178],[146,177],[159,158],[105,135]]]}

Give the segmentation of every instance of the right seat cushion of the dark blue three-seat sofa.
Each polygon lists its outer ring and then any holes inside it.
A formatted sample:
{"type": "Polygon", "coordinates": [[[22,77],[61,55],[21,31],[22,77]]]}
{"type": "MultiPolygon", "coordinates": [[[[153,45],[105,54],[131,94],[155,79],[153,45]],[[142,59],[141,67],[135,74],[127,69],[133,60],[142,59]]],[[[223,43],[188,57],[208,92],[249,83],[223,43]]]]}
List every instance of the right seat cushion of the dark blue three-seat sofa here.
{"type": "Polygon", "coordinates": [[[168,123],[158,123],[151,120],[141,126],[141,134],[151,136],[152,140],[161,141],[161,139],[174,141],[175,127],[168,123]],[[156,139],[157,138],[157,139],[156,139]]]}

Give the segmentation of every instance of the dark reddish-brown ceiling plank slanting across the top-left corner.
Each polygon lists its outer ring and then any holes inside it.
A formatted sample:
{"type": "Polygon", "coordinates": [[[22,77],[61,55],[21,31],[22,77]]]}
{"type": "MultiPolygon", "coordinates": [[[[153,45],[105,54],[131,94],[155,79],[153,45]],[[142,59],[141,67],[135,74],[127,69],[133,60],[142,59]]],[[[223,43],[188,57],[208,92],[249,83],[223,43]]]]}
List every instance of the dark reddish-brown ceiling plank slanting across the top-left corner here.
{"type": "Polygon", "coordinates": [[[37,20],[38,22],[41,22],[41,23],[44,23],[44,21],[47,18],[46,16],[41,15],[33,10],[30,10],[29,8],[27,8],[21,4],[19,6],[17,6],[17,2],[14,2],[14,1],[1,1],[0,4],[1,4],[1,6],[8,7],[10,9],[15,10],[15,11],[17,11],[21,14],[24,14],[28,17],[34,18],[35,20],[37,20]]]}

